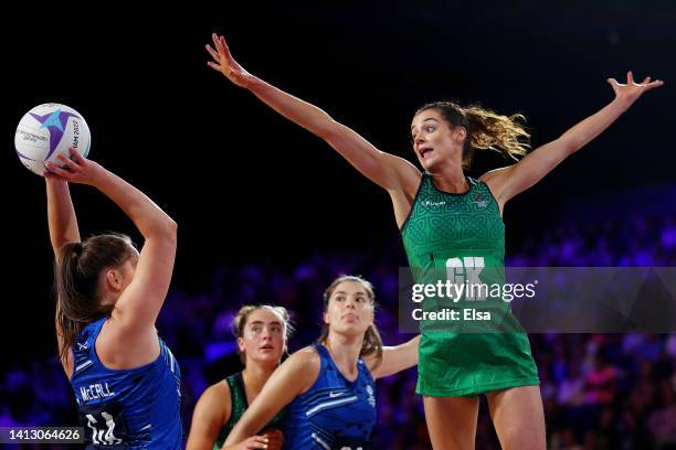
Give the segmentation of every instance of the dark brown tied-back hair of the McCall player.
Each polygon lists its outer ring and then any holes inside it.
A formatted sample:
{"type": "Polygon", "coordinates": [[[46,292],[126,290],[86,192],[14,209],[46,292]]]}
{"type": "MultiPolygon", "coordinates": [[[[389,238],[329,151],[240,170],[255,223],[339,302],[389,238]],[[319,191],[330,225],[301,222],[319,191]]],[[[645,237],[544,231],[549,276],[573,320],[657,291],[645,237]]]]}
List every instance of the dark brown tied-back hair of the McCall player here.
{"type": "Polygon", "coordinates": [[[68,243],[59,251],[54,262],[54,283],[62,360],[87,323],[110,317],[114,306],[99,302],[101,274],[122,267],[135,255],[133,245],[128,236],[109,233],[92,236],[83,243],[68,243]]]}

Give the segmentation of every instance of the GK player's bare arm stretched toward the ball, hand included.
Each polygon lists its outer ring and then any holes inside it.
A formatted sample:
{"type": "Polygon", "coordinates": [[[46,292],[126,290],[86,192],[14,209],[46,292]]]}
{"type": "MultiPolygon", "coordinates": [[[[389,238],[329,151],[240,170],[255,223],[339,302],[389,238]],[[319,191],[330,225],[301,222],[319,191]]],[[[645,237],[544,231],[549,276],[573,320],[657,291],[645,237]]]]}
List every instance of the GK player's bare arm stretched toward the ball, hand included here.
{"type": "Polygon", "coordinates": [[[246,72],[230,54],[223,36],[212,35],[214,49],[207,51],[214,61],[208,64],[233,84],[251,90],[263,103],[329,143],[369,180],[388,191],[412,192],[420,182],[420,171],[409,161],[382,152],[360,135],[335,121],[318,107],[296,98],[246,72]]]}

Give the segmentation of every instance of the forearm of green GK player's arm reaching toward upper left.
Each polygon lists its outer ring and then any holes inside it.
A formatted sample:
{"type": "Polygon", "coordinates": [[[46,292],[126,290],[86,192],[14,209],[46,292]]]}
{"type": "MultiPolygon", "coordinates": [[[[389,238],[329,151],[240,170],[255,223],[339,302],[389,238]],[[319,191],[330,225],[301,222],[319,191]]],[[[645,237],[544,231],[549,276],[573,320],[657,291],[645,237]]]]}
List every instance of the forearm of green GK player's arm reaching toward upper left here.
{"type": "Polygon", "coordinates": [[[251,76],[246,88],[275,111],[311,133],[326,139],[337,129],[331,117],[323,109],[278,89],[261,78],[251,76]]]}

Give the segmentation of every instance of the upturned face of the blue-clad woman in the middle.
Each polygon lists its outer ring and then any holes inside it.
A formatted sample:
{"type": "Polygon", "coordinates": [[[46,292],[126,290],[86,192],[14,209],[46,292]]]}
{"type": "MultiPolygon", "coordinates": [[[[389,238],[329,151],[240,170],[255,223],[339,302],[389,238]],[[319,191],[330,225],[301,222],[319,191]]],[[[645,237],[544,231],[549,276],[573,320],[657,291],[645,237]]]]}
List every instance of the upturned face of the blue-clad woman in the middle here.
{"type": "Polygon", "coordinates": [[[324,320],[339,333],[365,333],[373,323],[373,306],[365,286],[359,281],[342,281],[336,286],[324,320]]]}

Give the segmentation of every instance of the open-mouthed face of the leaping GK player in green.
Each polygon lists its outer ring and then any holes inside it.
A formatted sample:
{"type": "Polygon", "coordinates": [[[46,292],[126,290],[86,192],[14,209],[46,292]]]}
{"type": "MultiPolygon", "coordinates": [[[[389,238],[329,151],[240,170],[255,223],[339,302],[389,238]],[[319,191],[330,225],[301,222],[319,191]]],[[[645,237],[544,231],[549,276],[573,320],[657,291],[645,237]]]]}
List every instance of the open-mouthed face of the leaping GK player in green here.
{"type": "Polygon", "coordinates": [[[423,169],[433,172],[447,159],[462,163],[464,127],[452,127],[439,109],[426,109],[411,124],[413,150],[423,169]]]}

